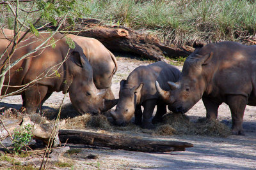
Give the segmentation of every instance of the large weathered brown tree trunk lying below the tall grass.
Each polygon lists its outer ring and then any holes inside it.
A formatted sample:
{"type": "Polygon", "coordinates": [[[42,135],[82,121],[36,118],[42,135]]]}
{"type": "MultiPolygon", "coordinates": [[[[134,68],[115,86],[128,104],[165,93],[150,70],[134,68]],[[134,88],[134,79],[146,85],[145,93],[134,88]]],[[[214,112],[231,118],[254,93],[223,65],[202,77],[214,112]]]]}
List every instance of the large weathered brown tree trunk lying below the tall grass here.
{"type": "Polygon", "coordinates": [[[178,47],[168,46],[161,43],[159,39],[150,35],[134,31],[127,27],[113,26],[106,27],[99,24],[97,20],[81,19],[75,26],[70,27],[64,24],[63,31],[75,31],[73,34],[98,39],[111,52],[127,52],[146,57],[150,60],[166,61],[168,57],[186,57],[195,48],[189,46],[178,47]]]}

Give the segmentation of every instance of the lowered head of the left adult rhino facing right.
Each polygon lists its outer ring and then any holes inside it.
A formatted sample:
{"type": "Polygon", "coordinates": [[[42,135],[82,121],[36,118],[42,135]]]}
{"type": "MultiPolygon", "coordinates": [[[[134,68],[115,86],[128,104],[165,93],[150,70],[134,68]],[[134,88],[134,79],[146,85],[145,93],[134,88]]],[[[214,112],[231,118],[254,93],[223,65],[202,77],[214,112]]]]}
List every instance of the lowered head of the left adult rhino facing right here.
{"type": "MultiPolygon", "coordinates": [[[[104,100],[107,90],[97,89],[93,83],[93,71],[86,57],[79,52],[71,53],[70,78],[67,87],[72,106],[79,113],[100,113],[115,106],[116,101],[104,100]]],[[[66,82],[66,83],[67,83],[66,82]]],[[[68,83],[67,83],[68,84],[68,83]]],[[[67,85],[66,85],[67,86],[67,85]]]]}

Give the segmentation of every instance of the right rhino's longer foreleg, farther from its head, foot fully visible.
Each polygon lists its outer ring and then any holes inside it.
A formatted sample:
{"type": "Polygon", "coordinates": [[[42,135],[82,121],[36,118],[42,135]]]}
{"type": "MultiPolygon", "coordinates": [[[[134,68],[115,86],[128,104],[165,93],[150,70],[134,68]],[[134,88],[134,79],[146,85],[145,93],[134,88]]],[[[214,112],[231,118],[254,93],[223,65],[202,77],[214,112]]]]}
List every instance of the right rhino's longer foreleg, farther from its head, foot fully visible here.
{"type": "Polygon", "coordinates": [[[230,108],[232,117],[232,134],[244,135],[243,117],[247,101],[248,99],[244,96],[230,95],[227,97],[227,104],[230,108]]]}

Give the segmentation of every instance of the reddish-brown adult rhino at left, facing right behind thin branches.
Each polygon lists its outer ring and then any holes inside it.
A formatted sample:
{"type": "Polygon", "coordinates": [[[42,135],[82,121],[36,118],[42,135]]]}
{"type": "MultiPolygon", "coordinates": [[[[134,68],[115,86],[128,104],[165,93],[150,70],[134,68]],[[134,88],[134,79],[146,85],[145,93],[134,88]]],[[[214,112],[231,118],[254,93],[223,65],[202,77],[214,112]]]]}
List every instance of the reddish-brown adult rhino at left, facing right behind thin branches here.
{"type": "MultiPolygon", "coordinates": [[[[23,35],[24,32],[20,32],[19,36],[23,35]]],[[[12,30],[0,31],[0,53],[4,53],[12,38],[12,30]]],[[[38,36],[26,34],[16,46],[10,60],[7,56],[12,50],[12,45],[9,46],[0,60],[1,69],[4,62],[7,62],[8,67],[47,38],[49,38],[47,33],[40,33],[38,36]]],[[[59,33],[56,33],[52,39],[56,42],[51,44],[49,40],[47,45],[20,60],[6,73],[1,96],[21,94],[23,106],[28,113],[38,112],[52,92],[60,91],[63,94],[69,92],[72,106],[79,113],[99,113],[114,106],[112,101],[102,99],[106,90],[98,90],[95,87],[92,66],[81,47],[76,45],[74,49],[69,48],[65,37],[59,33]]]]}

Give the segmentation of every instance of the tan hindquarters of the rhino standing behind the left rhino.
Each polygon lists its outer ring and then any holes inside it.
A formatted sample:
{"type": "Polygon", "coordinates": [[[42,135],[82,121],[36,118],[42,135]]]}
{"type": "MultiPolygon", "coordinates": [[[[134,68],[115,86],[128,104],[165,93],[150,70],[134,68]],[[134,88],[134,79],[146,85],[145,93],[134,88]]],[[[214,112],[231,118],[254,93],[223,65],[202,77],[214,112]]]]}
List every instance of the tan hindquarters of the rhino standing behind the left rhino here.
{"type": "Polygon", "coordinates": [[[95,38],[68,34],[83,49],[85,57],[93,69],[93,82],[97,89],[108,89],[105,99],[115,99],[111,90],[112,77],[117,70],[115,55],[95,38]]]}

